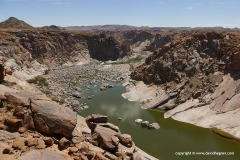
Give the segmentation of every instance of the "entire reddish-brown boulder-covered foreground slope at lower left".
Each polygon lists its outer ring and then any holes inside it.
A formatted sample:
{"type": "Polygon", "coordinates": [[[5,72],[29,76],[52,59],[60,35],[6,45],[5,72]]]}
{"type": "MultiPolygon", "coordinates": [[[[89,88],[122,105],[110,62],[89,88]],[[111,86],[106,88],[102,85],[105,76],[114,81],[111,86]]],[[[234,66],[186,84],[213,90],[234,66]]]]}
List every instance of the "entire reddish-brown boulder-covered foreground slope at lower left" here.
{"type": "Polygon", "coordinates": [[[0,85],[3,159],[155,159],[102,115],[77,116],[44,95],[0,85]],[[87,123],[86,123],[87,122],[87,123]],[[90,129],[89,129],[90,128],[90,129]]]}

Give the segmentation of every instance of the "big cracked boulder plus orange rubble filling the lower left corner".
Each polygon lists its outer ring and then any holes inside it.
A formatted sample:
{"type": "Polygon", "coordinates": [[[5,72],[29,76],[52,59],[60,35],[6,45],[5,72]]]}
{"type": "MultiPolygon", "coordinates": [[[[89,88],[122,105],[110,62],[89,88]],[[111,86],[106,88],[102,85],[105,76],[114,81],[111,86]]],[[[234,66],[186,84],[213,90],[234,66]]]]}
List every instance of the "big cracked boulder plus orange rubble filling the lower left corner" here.
{"type": "MultiPolygon", "coordinates": [[[[0,150],[4,154],[1,156],[9,155],[16,159],[22,153],[54,144],[61,148],[65,141],[69,141],[66,138],[72,138],[77,124],[77,114],[72,110],[44,95],[18,91],[4,85],[0,88],[3,103],[0,108],[0,150]]],[[[53,151],[47,152],[54,154],[53,151]]],[[[23,157],[20,159],[26,158],[23,157]]]]}

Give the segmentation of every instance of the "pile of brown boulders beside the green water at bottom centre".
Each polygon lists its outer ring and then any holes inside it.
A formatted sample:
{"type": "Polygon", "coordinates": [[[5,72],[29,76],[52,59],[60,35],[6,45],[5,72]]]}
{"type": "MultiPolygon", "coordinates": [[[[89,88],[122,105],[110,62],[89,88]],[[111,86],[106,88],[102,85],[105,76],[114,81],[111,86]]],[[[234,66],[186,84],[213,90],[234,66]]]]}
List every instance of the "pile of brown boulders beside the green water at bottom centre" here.
{"type": "Polygon", "coordinates": [[[91,129],[90,143],[108,151],[105,157],[116,160],[143,158],[131,136],[122,134],[117,126],[108,123],[107,116],[92,114],[86,117],[86,122],[91,129]]]}

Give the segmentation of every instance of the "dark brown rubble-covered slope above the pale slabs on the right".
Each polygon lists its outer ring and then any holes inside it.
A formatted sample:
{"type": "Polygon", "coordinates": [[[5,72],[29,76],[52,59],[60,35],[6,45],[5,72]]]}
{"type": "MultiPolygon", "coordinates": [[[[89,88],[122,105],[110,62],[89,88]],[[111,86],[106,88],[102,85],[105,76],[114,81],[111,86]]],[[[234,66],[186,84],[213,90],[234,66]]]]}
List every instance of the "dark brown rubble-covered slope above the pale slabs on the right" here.
{"type": "Polygon", "coordinates": [[[214,31],[181,37],[156,50],[131,78],[165,90],[166,98],[154,107],[171,100],[181,104],[192,97],[203,99],[215,91],[224,74],[238,73],[233,57],[238,53],[239,39],[237,33],[214,31]],[[226,38],[228,34],[231,38],[226,38]]]}

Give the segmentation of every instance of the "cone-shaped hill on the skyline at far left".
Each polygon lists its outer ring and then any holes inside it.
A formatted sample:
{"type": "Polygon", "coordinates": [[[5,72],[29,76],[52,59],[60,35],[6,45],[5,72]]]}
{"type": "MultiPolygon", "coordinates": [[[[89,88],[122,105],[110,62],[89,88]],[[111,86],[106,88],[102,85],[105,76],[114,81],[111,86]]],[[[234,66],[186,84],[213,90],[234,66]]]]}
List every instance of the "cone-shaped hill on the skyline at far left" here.
{"type": "Polygon", "coordinates": [[[0,23],[0,28],[32,29],[33,27],[22,20],[10,17],[0,23]]]}

